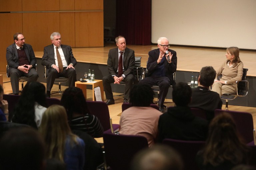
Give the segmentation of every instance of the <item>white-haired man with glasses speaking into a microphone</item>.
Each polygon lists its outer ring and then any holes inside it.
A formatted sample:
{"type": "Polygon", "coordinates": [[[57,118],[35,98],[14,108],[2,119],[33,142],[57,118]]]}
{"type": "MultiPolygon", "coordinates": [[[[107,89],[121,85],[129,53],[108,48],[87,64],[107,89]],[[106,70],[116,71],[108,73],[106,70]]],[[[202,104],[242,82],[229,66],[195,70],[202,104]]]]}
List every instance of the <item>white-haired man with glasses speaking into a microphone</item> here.
{"type": "Polygon", "coordinates": [[[175,84],[173,73],[177,69],[177,54],[176,51],[168,49],[170,47],[169,40],[165,37],[157,40],[157,46],[157,49],[148,52],[148,73],[140,83],[159,86],[159,111],[164,112],[164,100],[168,88],[175,84]]]}

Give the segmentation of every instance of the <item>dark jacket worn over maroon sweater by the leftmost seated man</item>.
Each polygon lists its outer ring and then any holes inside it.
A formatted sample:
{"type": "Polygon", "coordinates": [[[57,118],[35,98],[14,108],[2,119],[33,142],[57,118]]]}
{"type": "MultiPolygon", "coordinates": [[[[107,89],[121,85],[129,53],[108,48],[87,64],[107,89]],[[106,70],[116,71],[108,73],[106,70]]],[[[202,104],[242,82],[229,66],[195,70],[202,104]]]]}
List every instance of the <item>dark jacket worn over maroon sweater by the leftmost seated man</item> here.
{"type": "MultiPolygon", "coordinates": [[[[28,61],[30,63],[30,65],[32,65],[33,67],[35,67],[36,65],[36,57],[35,57],[35,53],[33,51],[33,48],[30,44],[24,44],[23,48],[25,50],[25,53],[28,57],[28,61]]],[[[19,67],[19,56],[18,56],[18,52],[17,52],[17,48],[15,43],[9,45],[6,48],[6,60],[7,60],[7,64],[9,65],[9,69],[7,70],[7,75],[10,75],[10,70],[12,68],[18,68],[19,67]]]]}

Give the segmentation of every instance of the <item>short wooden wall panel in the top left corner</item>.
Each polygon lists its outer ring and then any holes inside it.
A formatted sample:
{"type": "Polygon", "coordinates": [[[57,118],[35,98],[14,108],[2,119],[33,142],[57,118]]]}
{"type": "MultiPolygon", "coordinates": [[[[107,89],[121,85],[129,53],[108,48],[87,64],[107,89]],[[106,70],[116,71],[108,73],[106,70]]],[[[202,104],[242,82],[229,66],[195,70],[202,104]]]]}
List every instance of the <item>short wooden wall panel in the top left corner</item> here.
{"type": "Polygon", "coordinates": [[[22,11],[22,0],[0,0],[0,12],[22,11]]]}

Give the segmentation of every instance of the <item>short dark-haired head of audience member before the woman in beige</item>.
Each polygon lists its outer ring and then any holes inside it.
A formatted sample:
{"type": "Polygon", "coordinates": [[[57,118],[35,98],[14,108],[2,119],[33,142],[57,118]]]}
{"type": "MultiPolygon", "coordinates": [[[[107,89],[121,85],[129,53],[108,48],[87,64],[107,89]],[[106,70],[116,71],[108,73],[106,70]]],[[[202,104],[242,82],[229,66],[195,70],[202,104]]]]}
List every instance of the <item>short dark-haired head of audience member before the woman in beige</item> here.
{"type": "Polygon", "coordinates": [[[212,66],[203,67],[199,73],[199,83],[204,87],[209,87],[213,84],[216,77],[216,71],[212,66]]]}

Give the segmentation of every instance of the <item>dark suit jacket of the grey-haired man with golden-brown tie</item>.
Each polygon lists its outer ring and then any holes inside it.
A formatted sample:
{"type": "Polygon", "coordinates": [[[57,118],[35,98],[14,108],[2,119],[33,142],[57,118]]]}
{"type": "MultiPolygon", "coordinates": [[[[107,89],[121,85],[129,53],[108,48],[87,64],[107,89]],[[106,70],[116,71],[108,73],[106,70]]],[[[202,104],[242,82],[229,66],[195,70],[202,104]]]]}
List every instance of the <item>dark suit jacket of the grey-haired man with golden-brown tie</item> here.
{"type": "MultiPolygon", "coordinates": [[[[72,48],[69,45],[60,45],[62,48],[62,51],[64,53],[65,59],[67,61],[67,64],[70,63],[73,64],[73,66],[76,65],[77,61],[72,53],[72,48]]],[[[55,64],[55,58],[54,58],[54,46],[53,44],[48,45],[44,47],[44,55],[42,58],[42,65],[45,65],[46,68],[52,68],[52,64],[55,64]]]]}

